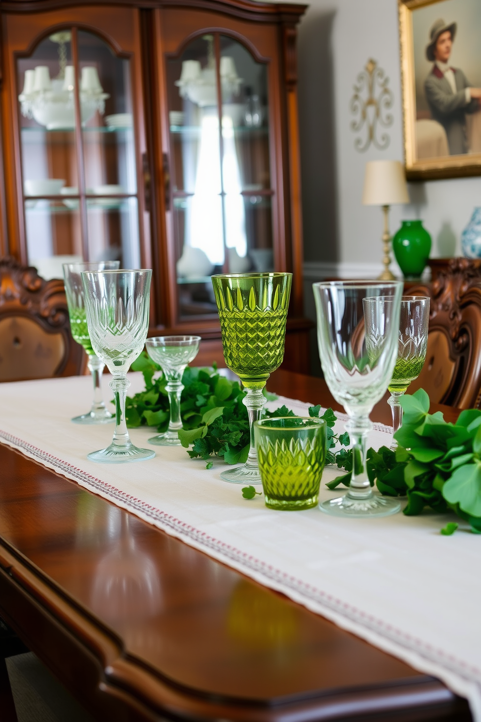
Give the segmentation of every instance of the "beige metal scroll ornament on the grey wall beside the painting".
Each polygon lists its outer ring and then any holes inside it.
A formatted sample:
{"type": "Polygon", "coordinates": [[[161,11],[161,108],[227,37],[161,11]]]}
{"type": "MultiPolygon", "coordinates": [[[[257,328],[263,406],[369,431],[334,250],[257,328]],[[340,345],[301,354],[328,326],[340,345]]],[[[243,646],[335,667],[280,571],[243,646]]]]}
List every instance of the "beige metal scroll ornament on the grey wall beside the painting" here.
{"type": "Polygon", "coordinates": [[[362,132],[362,135],[356,138],[354,147],[361,153],[367,150],[371,143],[379,150],[389,146],[389,135],[386,132],[379,134],[379,126],[389,128],[394,120],[392,113],[389,113],[393,95],[388,85],[389,78],[384,70],[378,66],[377,61],[370,58],[363,71],[358,74],[354,95],[350,99],[351,113],[357,116],[351,121],[350,127],[355,133],[362,132]]]}

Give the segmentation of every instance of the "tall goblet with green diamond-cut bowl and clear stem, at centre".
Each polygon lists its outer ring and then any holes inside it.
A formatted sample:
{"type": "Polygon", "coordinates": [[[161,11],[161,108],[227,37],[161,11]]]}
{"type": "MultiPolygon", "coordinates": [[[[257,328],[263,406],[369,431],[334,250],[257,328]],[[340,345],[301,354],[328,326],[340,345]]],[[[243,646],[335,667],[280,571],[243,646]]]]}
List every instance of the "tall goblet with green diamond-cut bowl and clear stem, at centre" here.
{"type": "Polygon", "coordinates": [[[212,277],[226,365],[247,388],[243,399],[250,423],[250,448],[244,466],[221,473],[234,484],[260,484],[253,424],[262,415],[262,388],[284,357],[290,273],[219,274],[212,277]]]}

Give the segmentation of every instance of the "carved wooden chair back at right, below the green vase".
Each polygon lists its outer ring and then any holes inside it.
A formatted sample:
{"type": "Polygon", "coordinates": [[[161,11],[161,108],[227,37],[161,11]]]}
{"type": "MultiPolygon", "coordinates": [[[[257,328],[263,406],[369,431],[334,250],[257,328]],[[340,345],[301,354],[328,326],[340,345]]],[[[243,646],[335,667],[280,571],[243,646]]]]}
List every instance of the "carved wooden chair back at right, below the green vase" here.
{"type": "Polygon", "coordinates": [[[411,287],[407,295],[431,299],[428,352],[418,388],[431,401],[477,409],[481,406],[481,260],[452,258],[431,284],[411,287]]]}

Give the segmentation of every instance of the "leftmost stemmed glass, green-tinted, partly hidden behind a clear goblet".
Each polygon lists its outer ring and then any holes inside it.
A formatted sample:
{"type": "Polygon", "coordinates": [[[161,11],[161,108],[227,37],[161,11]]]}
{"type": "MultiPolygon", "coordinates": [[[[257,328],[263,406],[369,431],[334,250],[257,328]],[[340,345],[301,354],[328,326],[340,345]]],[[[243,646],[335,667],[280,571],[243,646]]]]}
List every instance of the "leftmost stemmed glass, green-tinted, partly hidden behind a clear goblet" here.
{"type": "Polygon", "coordinates": [[[114,420],[113,414],[105,408],[102,396],[102,371],[105,364],[95,355],[89,339],[85,317],[84,287],[81,271],[115,271],[120,261],[99,261],[98,263],[63,264],[63,282],[69,305],[70,328],[74,341],[85,349],[89,357],[87,367],[94,382],[92,409],[71,419],[75,424],[105,424],[114,420]]]}

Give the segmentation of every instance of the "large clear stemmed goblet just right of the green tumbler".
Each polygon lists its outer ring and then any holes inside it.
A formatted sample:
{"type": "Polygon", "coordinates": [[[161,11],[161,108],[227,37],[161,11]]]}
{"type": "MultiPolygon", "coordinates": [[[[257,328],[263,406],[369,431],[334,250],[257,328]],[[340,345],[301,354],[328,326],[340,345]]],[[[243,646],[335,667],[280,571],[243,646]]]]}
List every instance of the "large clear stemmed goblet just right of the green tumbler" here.
{"type": "MultiPolygon", "coordinates": [[[[327,386],[348,414],[346,429],[353,452],[353,473],[347,494],[322,503],[336,516],[387,516],[400,503],[373,492],[366,473],[369,414],[384,395],[397,357],[402,282],[340,281],[314,284],[319,356],[327,386]],[[363,299],[388,297],[379,313],[365,313],[363,299]],[[377,339],[375,352],[366,337],[377,339]]],[[[374,344],[374,342],[373,342],[374,344]]]]}

